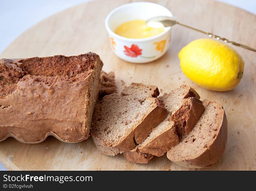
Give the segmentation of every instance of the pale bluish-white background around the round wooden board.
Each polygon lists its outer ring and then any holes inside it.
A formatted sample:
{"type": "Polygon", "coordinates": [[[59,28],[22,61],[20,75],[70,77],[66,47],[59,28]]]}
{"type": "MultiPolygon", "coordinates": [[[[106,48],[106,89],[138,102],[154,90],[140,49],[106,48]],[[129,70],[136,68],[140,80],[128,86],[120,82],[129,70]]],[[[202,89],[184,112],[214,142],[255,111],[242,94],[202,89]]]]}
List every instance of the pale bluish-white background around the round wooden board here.
{"type": "MultiPolygon", "coordinates": [[[[42,19],[86,1],[88,0],[0,0],[0,54],[15,38],[42,19]]],[[[218,1],[256,15],[255,0],[218,1]]],[[[1,163],[0,170],[6,170],[1,163]]]]}

